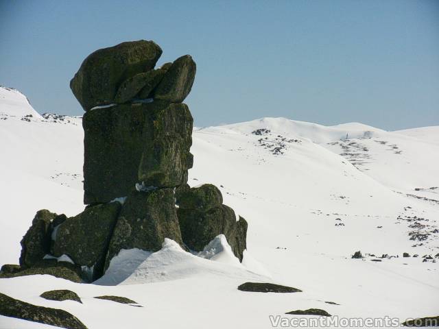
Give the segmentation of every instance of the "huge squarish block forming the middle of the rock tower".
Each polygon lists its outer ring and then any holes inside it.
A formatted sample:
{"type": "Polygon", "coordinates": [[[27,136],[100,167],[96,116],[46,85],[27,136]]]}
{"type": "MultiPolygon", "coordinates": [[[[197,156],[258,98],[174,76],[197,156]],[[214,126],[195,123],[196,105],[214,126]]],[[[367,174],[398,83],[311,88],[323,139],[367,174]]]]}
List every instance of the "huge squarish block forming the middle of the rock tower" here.
{"type": "Polygon", "coordinates": [[[137,182],[175,187],[187,182],[193,119],[185,104],[121,104],[86,112],[84,204],[126,197],[137,182]]]}

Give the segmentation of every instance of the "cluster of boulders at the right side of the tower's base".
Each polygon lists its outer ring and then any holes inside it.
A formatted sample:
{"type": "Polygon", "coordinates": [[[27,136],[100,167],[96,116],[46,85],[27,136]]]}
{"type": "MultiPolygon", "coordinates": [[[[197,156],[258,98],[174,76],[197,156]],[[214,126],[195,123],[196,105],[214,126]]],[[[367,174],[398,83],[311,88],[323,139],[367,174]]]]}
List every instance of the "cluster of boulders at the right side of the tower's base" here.
{"type": "Polygon", "coordinates": [[[233,253],[242,261],[246,249],[247,222],[236,221],[232,208],[222,204],[218,188],[204,184],[197,188],[180,188],[176,193],[177,215],[182,239],[195,251],[201,251],[218,234],[224,234],[233,253]]]}

